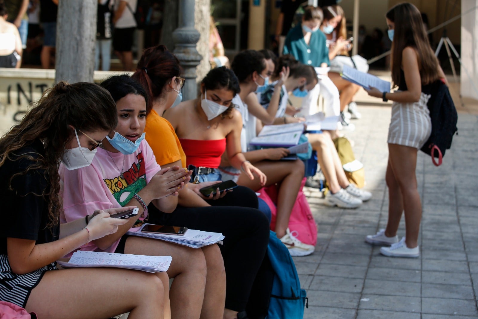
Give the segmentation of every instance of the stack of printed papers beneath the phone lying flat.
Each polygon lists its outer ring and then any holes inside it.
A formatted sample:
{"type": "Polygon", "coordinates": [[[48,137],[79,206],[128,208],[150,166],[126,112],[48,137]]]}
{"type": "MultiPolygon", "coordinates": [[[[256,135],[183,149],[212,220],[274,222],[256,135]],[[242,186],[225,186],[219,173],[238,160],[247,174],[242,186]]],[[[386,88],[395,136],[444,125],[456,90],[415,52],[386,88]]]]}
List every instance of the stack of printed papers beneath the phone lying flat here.
{"type": "Polygon", "coordinates": [[[184,235],[164,235],[141,232],[141,229],[146,225],[148,224],[144,224],[136,231],[128,231],[126,232],[126,234],[131,236],[171,241],[176,244],[184,245],[191,248],[201,248],[216,243],[222,244],[222,240],[225,238],[221,233],[213,233],[210,231],[202,231],[195,229],[186,230],[184,235]]]}

